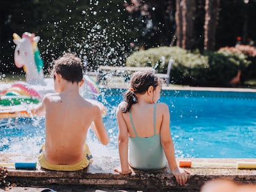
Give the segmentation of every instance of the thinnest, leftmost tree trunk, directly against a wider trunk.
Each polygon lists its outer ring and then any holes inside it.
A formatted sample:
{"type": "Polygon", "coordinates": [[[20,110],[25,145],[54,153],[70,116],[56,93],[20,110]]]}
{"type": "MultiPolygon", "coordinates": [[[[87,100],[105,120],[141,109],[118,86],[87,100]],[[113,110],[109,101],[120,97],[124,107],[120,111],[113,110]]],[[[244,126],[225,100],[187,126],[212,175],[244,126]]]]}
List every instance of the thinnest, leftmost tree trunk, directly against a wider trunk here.
{"type": "Polygon", "coordinates": [[[175,12],[175,20],[176,20],[176,46],[182,48],[182,0],[176,0],[176,12],[175,12]]]}

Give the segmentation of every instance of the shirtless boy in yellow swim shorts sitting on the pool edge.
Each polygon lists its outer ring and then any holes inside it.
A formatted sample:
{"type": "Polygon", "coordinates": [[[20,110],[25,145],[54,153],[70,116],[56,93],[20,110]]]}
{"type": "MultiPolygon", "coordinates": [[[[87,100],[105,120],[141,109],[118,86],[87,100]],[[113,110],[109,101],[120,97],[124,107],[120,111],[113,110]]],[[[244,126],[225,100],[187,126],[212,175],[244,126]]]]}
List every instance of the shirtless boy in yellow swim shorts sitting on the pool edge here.
{"type": "Polygon", "coordinates": [[[56,93],[46,94],[35,114],[45,115],[45,144],[38,161],[49,170],[81,170],[92,162],[85,139],[90,125],[102,144],[109,143],[100,108],[79,94],[83,85],[82,62],[74,54],[54,61],[56,93]]]}

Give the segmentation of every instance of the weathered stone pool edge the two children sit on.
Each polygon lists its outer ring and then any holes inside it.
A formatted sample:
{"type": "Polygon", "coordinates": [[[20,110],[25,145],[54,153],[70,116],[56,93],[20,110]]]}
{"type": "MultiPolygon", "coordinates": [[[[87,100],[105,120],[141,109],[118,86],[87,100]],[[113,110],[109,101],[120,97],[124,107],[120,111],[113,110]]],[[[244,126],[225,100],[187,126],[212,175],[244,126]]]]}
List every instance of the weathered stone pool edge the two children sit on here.
{"type": "MultiPolygon", "coordinates": [[[[0,162],[36,162],[36,155],[0,154],[0,162]]],[[[182,160],[178,158],[177,161],[182,160]]],[[[186,158],[187,160],[187,158],[186,158]]],[[[188,168],[192,173],[185,186],[179,186],[169,168],[163,170],[140,171],[134,170],[130,175],[119,175],[113,169],[119,166],[118,159],[111,157],[94,157],[87,169],[77,172],[61,172],[41,169],[18,170],[8,167],[7,180],[19,183],[21,186],[72,186],[95,187],[109,189],[128,189],[129,191],[200,191],[201,186],[215,178],[228,178],[238,183],[256,185],[256,169],[236,169],[228,163],[256,162],[256,159],[202,159],[192,158],[194,162],[219,162],[223,165],[194,165],[188,168]]],[[[193,164],[192,164],[193,165],[193,164]]],[[[83,188],[84,190],[84,188],[83,188]]],[[[62,190],[61,190],[62,191],[62,190]]]]}

